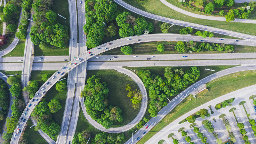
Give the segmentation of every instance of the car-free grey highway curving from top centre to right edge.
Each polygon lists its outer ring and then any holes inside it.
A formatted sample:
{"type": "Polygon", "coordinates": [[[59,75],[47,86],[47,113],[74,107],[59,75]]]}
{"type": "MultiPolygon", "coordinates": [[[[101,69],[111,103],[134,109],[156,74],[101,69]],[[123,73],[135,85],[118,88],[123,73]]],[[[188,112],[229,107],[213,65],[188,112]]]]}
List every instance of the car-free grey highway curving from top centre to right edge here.
{"type": "Polygon", "coordinates": [[[114,0],[114,1],[117,4],[121,5],[122,7],[126,8],[128,10],[130,10],[138,15],[142,15],[144,17],[150,18],[150,19],[154,19],[154,20],[158,20],[158,21],[166,22],[166,23],[171,23],[171,24],[175,24],[175,25],[179,25],[179,26],[183,26],[183,27],[191,27],[193,29],[210,31],[213,33],[218,33],[218,34],[223,34],[223,35],[228,35],[228,36],[233,36],[233,37],[238,37],[238,38],[244,38],[246,40],[252,40],[252,41],[256,40],[256,36],[243,34],[243,33],[239,33],[239,32],[234,32],[234,31],[229,31],[229,30],[224,30],[224,29],[220,29],[220,28],[209,27],[209,26],[195,24],[195,23],[190,23],[190,22],[176,20],[176,19],[171,19],[171,18],[167,18],[167,17],[162,17],[159,15],[155,15],[155,14],[140,10],[138,8],[135,8],[122,0],[114,0]]]}

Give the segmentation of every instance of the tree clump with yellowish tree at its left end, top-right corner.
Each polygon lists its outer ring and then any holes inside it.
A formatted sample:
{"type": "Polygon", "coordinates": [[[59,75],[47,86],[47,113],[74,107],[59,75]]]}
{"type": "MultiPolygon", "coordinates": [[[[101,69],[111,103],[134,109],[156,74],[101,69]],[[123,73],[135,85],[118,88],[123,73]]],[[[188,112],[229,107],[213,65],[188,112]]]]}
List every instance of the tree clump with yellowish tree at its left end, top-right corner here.
{"type": "Polygon", "coordinates": [[[235,20],[235,17],[247,19],[250,16],[251,11],[253,11],[253,9],[255,8],[255,6],[256,2],[251,1],[246,8],[229,10],[228,13],[225,15],[226,21],[233,21],[235,20]]]}

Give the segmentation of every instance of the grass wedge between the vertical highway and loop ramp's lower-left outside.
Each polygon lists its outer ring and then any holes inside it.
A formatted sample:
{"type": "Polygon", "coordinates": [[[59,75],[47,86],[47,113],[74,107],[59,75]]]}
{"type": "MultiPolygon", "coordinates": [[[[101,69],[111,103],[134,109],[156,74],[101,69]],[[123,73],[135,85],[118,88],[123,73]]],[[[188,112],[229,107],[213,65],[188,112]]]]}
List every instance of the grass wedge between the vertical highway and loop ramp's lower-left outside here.
{"type": "Polygon", "coordinates": [[[97,133],[100,133],[102,131],[94,128],[84,117],[82,108],[81,108],[81,104],[79,102],[79,107],[80,107],[80,111],[79,111],[79,116],[78,116],[78,121],[77,121],[77,125],[76,125],[76,134],[82,132],[83,130],[86,130],[87,132],[90,132],[91,137],[95,137],[95,135],[97,133]]]}

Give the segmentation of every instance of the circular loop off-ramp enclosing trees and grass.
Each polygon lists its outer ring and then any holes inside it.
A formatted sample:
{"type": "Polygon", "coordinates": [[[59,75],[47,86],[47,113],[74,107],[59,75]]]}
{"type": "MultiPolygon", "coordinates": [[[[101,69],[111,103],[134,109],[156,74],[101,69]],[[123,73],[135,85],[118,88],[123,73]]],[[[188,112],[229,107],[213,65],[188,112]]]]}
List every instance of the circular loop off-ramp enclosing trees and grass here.
{"type": "MultiPolygon", "coordinates": [[[[87,70],[96,70],[98,68],[87,68],[87,70]]],[[[108,133],[121,133],[121,132],[125,132],[130,130],[131,128],[135,127],[137,123],[139,123],[139,121],[143,118],[146,110],[147,110],[147,104],[148,104],[148,96],[147,96],[147,91],[146,88],[143,84],[143,82],[141,81],[141,79],[132,71],[122,68],[122,67],[105,67],[105,68],[100,68],[100,69],[113,69],[116,70],[120,73],[123,73],[127,76],[129,76],[131,79],[133,79],[136,84],[138,85],[141,94],[142,94],[142,103],[141,103],[141,107],[140,107],[140,111],[137,114],[137,116],[128,124],[121,126],[121,127],[116,127],[116,128],[110,128],[110,129],[106,129],[104,128],[101,124],[99,124],[97,121],[93,120],[86,112],[86,107],[84,105],[84,98],[80,99],[81,102],[81,107],[82,107],[82,111],[84,113],[85,118],[87,119],[87,121],[96,129],[100,130],[100,131],[104,131],[104,132],[108,132],[108,133]]]]}

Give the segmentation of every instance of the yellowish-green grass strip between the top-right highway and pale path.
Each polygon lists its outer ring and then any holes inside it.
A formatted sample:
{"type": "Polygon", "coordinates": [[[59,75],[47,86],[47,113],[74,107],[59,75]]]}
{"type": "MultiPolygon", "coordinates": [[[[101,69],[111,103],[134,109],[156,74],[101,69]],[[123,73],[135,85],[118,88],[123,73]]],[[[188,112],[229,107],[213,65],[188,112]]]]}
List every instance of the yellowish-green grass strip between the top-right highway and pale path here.
{"type": "Polygon", "coordinates": [[[197,24],[202,24],[202,25],[207,25],[207,26],[216,27],[216,28],[233,30],[241,33],[256,35],[256,29],[252,29],[252,27],[254,27],[255,24],[214,21],[214,20],[194,18],[194,17],[184,15],[182,13],[179,13],[167,7],[159,0],[143,0],[143,1],[124,0],[124,1],[136,8],[139,8],[141,10],[144,10],[156,15],[169,17],[169,18],[182,20],[182,21],[187,21],[187,22],[192,22],[192,23],[197,23],[197,24]]]}

